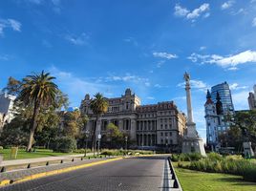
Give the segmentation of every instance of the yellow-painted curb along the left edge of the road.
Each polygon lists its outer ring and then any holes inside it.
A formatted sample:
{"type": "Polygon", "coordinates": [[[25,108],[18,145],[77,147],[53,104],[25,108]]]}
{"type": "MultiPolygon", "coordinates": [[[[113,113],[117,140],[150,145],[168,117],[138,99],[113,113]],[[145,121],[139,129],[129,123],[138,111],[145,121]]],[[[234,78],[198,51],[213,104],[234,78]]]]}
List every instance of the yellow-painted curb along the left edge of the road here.
{"type": "Polygon", "coordinates": [[[105,160],[100,160],[100,161],[96,161],[96,162],[92,162],[92,163],[86,163],[86,164],[81,164],[81,165],[77,165],[77,166],[71,166],[71,167],[62,168],[62,169],[58,169],[58,170],[53,170],[53,171],[49,171],[49,172],[34,174],[34,175],[31,175],[31,176],[21,178],[19,180],[2,180],[2,181],[0,181],[0,186],[5,186],[5,185],[12,184],[12,183],[19,183],[19,182],[23,182],[23,181],[35,180],[35,179],[39,179],[39,178],[43,178],[43,177],[62,174],[62,173],[74,171],[74,170],[81,169],[81,168],[86,168],[86,167],[90,167],[90,166],[96,166],[98,164],[103,164],[103,163],[108,163],[108,162],[111,162],[111,161],[116,161],[116,160],[119,160],[119,159],[124,159],[124,158],[105,159],[105,160]]]}

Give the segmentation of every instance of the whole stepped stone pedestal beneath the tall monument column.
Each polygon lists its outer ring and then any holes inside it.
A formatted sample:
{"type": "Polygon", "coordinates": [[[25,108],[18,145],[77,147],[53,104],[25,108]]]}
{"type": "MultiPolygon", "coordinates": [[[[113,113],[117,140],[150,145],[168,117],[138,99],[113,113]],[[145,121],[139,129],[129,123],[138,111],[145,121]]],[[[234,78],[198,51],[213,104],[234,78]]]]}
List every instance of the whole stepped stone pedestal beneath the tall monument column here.
{"type": "Polygon", "coordinates": [[[200,153],[202,156],[206,156],[203,139],[198,136],[196,131],[196,124],[191,122],[187,123],[187,133],[182,142],[182,153],[200,153]]]}

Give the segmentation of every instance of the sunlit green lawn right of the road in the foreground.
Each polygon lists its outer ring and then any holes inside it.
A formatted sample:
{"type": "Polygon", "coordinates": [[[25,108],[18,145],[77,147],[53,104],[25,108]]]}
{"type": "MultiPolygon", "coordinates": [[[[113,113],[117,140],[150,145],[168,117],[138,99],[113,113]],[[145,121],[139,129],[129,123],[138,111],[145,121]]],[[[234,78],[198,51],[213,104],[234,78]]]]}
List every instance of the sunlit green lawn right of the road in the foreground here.
{"type": "Polygon", "coordinates": [[[183,191],[255,191],[256,182],[244,181],[241,176],[203,173],[179,168],[173,162],[183,191]]]}

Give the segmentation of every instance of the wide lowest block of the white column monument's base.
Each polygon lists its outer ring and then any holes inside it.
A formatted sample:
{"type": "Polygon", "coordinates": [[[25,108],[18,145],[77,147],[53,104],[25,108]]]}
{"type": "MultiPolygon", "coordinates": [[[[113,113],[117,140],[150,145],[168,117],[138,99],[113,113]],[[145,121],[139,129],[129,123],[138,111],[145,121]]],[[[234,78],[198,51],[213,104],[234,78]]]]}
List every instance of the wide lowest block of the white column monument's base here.
{"type": "Polygon", "coordinates": [[[182,153],[200,153],[206,156],[202,138],[184,137],[182,142],[182,153]]]}

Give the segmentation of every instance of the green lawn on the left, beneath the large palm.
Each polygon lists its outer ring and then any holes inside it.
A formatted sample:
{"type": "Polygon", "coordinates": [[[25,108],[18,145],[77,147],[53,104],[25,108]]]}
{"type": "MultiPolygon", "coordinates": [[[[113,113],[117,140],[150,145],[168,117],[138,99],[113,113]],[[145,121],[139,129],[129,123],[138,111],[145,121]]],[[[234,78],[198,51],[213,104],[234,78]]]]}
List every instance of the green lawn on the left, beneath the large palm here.
{"type": "MultiPolygon", "coordinates": [[[[0,154],[4,156],[4,160],[11,159],[11,149],[0,150],[0,154]]],[[[36,149],[36,152],[27,153],[24,149],[19,149],[17,159],[57,157],[71,154],[75,153],[55,153],[53,150],[48,149],[36,149]]]]}

